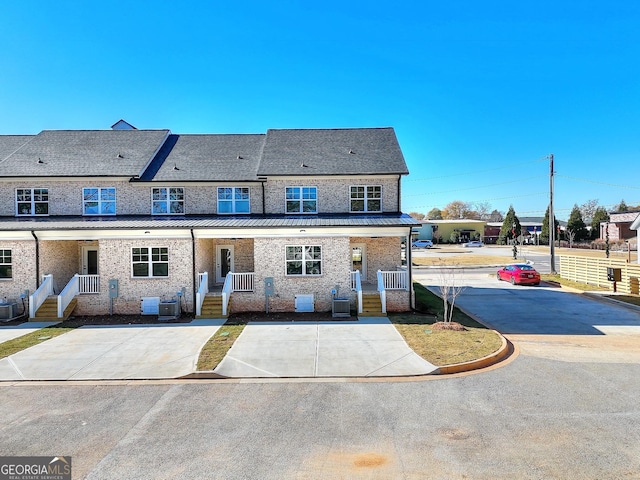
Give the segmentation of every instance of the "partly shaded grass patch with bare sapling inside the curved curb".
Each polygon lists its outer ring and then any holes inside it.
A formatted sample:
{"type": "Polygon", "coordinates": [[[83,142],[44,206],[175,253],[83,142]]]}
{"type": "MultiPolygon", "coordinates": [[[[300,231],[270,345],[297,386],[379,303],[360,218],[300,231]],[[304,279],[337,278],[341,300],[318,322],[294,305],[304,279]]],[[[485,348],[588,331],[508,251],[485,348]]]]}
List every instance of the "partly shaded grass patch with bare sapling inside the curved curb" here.
{"type": "Polygon", "coordinates": [[[422,358],[437,366],[452,365],[477,360],[500,348],[499,335],[457,308],[453,321],[466,327],[465,331],[432,329],[431,325],[441,320],[442,299],[418,283],[414,283],[414,289],[418,310],[426,313],[392,313],[389,320],[422,358]]]}

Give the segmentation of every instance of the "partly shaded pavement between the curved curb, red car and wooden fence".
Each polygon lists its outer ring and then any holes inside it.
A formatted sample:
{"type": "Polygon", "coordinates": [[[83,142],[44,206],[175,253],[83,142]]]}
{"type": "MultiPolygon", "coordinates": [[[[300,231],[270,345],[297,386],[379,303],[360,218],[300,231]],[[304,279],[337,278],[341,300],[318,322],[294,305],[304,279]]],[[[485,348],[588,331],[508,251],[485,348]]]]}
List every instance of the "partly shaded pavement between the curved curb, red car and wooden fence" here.
{"type": "MultiPolygon", "coordinates": [[[[640,309],[550,286],[498,282],[486,272],[456,273],[456,305],[498,330],[521,353],[567,362],[640,363],[640,309]]],[[[437,271],[416,278],[437,291],[437,271]]]]}

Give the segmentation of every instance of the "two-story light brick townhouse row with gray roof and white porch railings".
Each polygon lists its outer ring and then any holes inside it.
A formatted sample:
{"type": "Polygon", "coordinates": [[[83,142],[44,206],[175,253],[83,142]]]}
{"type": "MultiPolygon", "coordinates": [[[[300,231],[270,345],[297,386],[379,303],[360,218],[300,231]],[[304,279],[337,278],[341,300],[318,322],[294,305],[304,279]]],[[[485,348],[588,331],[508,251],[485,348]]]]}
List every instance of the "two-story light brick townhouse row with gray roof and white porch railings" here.
{"type": "Polygon", "coordinates": [[[407,174],[392,128],[0,135],[0,301],[24,297],[30,318],[329,311],[336,296],[408,310],[407,174]]]}

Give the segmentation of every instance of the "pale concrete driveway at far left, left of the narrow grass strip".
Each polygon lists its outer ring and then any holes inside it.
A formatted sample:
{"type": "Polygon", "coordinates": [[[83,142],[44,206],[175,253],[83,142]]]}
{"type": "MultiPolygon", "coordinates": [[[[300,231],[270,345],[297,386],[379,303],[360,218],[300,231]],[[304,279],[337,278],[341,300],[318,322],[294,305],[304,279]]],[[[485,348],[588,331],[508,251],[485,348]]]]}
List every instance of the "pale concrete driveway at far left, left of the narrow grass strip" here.
{"type": "MultiPolygon", "coordinates": [[[[1,359],[0,380],[181,377],[195,370],[200,349],[223,323],[80,327],[1,359]]],[[[33,324],[23,325],[27,329],[33,324]]]]}

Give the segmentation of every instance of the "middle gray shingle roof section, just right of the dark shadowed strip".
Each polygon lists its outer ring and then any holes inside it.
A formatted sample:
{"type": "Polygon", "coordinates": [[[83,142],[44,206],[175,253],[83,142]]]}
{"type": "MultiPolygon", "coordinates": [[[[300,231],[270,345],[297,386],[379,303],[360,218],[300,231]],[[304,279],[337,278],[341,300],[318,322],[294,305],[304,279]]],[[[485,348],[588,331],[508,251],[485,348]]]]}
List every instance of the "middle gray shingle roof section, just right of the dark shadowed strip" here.
{"type": "Polygon", "coordinates": [[[153,181],[255,181],[265,135],[175,135],[153,181]]]}

